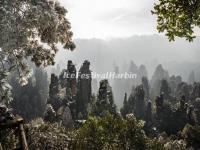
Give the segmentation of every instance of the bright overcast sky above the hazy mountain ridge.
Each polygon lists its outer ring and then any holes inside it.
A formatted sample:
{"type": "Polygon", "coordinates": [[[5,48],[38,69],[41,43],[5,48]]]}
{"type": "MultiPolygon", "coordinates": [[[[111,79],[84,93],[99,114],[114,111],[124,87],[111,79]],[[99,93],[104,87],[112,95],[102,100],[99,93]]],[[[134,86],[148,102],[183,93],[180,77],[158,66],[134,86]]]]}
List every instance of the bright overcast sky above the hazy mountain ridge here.
{"type": "Polygon", "coordinates": [[[69,11],[74,38],[155,34],[155,0],[59,0],[69,11]]]}

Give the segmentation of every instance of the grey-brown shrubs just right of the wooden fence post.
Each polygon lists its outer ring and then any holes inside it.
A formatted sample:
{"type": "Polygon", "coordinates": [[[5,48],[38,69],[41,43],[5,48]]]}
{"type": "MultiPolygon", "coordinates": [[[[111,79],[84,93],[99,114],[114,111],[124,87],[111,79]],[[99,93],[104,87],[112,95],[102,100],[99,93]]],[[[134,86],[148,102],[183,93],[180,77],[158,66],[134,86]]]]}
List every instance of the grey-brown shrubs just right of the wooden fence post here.
{"type": "MultiPolygon", "coordinates": [[[[35,120],[34,122],[37,122],[35,120]]],[[[61,150],[67,149],[69,144],[69,132],[58,124],[28,124],[26,126],[26,137],[30,150],[48,149],[61,150]]]]}

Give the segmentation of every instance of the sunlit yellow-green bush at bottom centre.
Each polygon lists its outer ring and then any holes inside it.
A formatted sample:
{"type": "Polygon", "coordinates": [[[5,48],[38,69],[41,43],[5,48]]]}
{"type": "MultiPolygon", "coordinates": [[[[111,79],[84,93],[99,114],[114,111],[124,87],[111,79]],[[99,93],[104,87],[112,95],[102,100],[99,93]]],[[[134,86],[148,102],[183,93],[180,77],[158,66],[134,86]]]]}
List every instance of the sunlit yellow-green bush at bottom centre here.
{"type": "Polygon", "coordinates": [[[162,147],[146,137],[143,123],[131,115],[126,120],[113,115],[103,118],[90,117],[84,125],[74,132],[72,149],[121,150],[153,149],[162,147]]]}

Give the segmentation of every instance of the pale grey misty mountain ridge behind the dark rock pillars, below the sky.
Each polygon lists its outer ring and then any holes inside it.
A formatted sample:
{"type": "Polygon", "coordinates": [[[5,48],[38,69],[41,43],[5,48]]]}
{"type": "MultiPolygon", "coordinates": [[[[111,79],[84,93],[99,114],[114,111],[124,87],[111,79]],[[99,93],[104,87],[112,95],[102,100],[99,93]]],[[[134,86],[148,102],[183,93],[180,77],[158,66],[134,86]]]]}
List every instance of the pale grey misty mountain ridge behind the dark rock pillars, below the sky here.
{"type": "MultiPolygon", "coordinates": [[[[76,50],[70,52],[60,47],[61,51],[56,56],[56,62],[61,69],[66,68],[67,61],[72,60],[77,70],[84,60],[91,62],[91,70],[98,73],[113,72],[118,66],[119,72],[128,71],[131,60],[139,67],[146,66],[148,78],[158,64],[162,64],[169,75],[181,75],[184,81],[192,70],[195,72],[196,80],[200,81],[200,37],[189,43],[184,39],[169,42],[166,37],[158,35],[132,36],[118,39],[75,39],[76,50]]],[[[111,86],[114,83],[111,80],[111,86]]],[[[119,87],[118,87],[119,88],[119,87]]],[[[113,88],[118,89],[118,88],[113,88]]],[[[125,85],[121,87],[125,90],[125,85]]],[[[118,103],[122,103],[124,96],[114,91],[118,103]]]]}

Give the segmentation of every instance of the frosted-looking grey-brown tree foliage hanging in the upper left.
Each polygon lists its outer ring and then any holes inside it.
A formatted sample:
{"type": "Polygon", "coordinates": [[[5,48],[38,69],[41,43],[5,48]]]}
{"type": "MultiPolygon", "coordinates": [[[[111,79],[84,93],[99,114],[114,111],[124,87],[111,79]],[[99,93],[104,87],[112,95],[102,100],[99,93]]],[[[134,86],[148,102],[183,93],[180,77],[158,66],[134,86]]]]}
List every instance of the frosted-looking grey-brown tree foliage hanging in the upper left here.
{"type": "MultiPolygon", "coordinates": [[[[25,59],[30,58],[37,66],[53,65],[58,51],[56,44],[73,50],[66,13],[54,0],[1,0],[0,73],[17,70],[20,83],[25,85],[31,74],[25,59]]],[[[0,76],[0,82],[5,79],[0,76]]],[[[10,95],[5,94],[10,90],[7,85],[0,88],[1,101],[7,101],[10,95]]]]}

